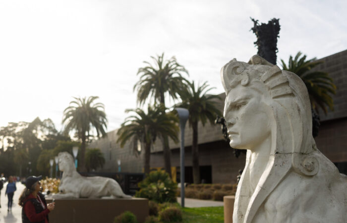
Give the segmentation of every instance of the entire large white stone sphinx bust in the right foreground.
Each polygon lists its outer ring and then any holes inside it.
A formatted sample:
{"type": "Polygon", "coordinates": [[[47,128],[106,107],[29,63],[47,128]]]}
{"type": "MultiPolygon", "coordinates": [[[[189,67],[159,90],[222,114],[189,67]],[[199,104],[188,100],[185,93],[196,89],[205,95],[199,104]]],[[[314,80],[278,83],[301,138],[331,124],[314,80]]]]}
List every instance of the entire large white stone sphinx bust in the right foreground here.
{"type": "Polygon", "coordinates": [[[347,176],[316,147],[302,80],[260,56],[221,78],[230,145],[247,150],[233,223],[347,222],[347,176]]]}

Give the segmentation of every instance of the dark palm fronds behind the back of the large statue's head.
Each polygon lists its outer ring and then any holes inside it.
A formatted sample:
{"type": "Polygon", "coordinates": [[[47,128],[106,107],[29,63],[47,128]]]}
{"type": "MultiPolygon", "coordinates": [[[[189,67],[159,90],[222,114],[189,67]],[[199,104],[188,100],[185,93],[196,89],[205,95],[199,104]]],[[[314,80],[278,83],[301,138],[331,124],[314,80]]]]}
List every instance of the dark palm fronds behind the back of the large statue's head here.
{"type": "Polygon", "coordinates": [[[288,66],[281,59],[283,69],[297,74],[305,83],[312,109],[318,112],[318,108],[321,108],[325,114],[328,111],[327,107],[333,111],[334,102],[331,94],[336,94],[336,86],[333,83],[333,79],[327,72],[312,71],[312,68],[323,63],[323,61],[315,61],[316,58],[306,60],[306,55],[300,58],[301,55],[301,52],[298,52],[294,59],[290,56],[288,66]]]}

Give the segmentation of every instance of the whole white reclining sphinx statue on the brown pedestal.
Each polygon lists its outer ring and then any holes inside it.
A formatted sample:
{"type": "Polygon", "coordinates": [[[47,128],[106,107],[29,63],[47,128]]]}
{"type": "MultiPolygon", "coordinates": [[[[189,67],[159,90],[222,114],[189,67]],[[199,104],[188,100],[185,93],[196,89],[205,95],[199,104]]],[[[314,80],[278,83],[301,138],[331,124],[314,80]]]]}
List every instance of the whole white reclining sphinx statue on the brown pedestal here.
{"type": "Polygon", "coordinates": [[[123,193],[116,180],[108,177],[81,176],[77,171],[72,156],[67,152],[59,153],[59,170],[63,171],[59,191],[53,198],[96,198],[120,197],[131,198],[123,193]]]}

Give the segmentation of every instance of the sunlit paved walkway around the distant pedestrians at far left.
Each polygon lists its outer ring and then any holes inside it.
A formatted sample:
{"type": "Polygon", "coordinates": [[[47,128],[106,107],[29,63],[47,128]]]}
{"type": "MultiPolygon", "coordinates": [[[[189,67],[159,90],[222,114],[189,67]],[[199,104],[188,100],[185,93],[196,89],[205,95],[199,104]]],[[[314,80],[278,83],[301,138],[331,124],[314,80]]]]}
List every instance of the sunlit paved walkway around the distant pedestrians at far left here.
{"type": "Polygon", "coordinates": [[[14,192],[11,212],[7,212],[7,196],[5,196],[6,186],[7,183],[4,183],[0,194],[0,223],[21,223],[22,207],[18,205],[18,199],[25,186],[20,182],[16,183],[17,190],[14,192]]]}

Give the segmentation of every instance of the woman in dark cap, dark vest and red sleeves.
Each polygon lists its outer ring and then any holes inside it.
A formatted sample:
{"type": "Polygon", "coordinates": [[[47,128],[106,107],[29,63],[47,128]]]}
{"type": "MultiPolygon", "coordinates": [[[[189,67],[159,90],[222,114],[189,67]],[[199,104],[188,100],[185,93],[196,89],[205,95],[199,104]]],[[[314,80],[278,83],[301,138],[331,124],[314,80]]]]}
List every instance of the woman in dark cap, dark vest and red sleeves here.
{"type": "Polygon", "coordinates": [[[47,205],[45,196],[40,192],[41,179],[42,176],[29,176],[25,181],[26,188],[19,197],[23,223],[48,223],[48,213],[54,210],[55,203],[47,205]]]}

